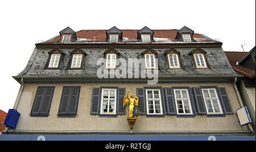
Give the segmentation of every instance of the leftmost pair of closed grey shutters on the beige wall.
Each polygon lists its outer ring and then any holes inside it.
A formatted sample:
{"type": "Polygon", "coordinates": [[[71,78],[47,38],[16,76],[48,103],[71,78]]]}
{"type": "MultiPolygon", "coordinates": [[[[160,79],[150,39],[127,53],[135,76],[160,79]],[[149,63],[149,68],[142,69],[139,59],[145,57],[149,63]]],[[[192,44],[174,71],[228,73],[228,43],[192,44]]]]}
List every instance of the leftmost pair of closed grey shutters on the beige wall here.
{"type": "Polygon", "coordinates": [[[48,116],[55,87],[38,87],[30,115],[48,116]]]}

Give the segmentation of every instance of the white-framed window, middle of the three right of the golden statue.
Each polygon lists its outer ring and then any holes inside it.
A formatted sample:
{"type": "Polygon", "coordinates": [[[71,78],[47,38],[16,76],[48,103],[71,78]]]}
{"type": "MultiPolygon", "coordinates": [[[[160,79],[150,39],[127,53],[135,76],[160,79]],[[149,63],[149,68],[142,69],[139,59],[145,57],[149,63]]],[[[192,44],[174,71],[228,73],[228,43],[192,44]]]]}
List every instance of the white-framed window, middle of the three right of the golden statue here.
{"type": "Polygon", "coordinates": [[[191,107],[191,101],[190,101],[189,94],[188,94],[188,89],[186,89],[186,88],[176,89],[176,88],[175,88],[175,89],[174,89],[174,97],[175,97],[177,115],[193,115],[193,111],[192,111],[192,107],[191,107]],[[176,91],[179,91],[179,92],[180,92],[181,98],[177,98],[177,96],[176,96],[176,91]],[[184,98],[184,97],[183,97],[182,91],[186,91],[186,93],[187,93],[187,98],[184,98]],[[178,104],[177,104],[177,101],[178,101],[178,100],[181,100],[181,104],[182,104],[182,108],[183,108],[183,113],[180,113],[180,112],[179,112],[179,107],[178,107],[178,104]],[[184,100],[188,100],[188,105],[189,105],[189,111],[190,111],[190,113],[185,113],[184,100]]]}

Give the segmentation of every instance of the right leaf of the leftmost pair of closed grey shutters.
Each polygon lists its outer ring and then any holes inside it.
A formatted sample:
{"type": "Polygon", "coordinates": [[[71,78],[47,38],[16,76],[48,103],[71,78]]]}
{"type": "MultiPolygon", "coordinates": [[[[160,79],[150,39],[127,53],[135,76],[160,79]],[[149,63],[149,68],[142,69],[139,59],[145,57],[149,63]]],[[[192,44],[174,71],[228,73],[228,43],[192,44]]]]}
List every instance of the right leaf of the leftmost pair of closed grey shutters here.
{"type": "Polygon", "coordinates": [[[53,92],[54,92],[54,87],[46,88],[40,113],[44,113],[44,114],[49,113],[49,109],[52,103],[53,92]]]}

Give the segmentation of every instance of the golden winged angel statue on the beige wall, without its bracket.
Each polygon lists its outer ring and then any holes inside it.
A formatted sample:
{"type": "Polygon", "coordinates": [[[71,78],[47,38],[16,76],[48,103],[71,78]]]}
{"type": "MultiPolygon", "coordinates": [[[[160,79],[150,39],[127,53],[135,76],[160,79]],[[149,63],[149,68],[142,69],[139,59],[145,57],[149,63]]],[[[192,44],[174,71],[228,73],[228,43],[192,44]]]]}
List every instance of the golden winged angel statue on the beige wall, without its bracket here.
{"type": "Polygon", "coordinates": [[[139,98],[136,96],[134,99],[134,95],[131,94],[131,97],[128,96],[129,90],[127,91],[127,95],[125,98],[123,98],[123,108],[125,108],[125,105],[129,104],[129,117],[128,118],[137,118],[139,112],[138,103],[139,98]]]}

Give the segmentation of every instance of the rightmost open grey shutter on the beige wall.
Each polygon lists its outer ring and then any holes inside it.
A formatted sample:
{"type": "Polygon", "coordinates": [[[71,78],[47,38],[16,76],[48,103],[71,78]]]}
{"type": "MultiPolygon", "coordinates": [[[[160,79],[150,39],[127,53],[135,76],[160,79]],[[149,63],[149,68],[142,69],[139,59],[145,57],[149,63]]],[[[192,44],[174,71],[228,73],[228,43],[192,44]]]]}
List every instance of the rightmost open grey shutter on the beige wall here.
{"type": "Polygon", "coordinates": [[[225,112],[226,114],[233,114],[233,110],[230,104],[230,100],[228,97],[228,94],[226,92],[226,88],[225,87],[218,87],[218,91],[221,97],[221,102],[223,105],[223,112],[225,112]]]}

